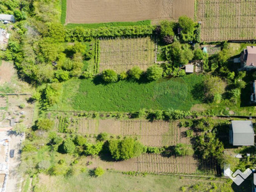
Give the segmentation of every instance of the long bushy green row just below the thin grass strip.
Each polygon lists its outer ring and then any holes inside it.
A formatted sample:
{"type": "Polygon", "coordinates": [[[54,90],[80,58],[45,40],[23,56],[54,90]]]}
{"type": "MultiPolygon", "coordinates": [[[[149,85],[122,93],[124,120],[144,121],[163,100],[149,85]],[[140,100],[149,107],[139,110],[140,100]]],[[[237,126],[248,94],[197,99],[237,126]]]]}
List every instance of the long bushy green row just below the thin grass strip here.
{"type": "Polygon", "coordinates": [[[155,26],[122,26],[110,28],[74,28],[66,29],[65,40],[67,42],[83,42],[92,38],[102,36],[138,36],[138,35],[152,35],[155,26]]]}

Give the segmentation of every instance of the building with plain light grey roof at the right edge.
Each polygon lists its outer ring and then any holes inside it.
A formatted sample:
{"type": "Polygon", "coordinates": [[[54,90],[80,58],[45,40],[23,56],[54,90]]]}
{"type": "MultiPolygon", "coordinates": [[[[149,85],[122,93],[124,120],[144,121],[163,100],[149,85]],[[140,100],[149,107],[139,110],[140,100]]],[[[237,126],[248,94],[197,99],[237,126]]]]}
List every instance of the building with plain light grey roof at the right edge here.
{"type": "Polygon", "coordinates": [[[234,146],[254,145],[252,121],[233,120],[229,131],[229,142],[234,146]]]}

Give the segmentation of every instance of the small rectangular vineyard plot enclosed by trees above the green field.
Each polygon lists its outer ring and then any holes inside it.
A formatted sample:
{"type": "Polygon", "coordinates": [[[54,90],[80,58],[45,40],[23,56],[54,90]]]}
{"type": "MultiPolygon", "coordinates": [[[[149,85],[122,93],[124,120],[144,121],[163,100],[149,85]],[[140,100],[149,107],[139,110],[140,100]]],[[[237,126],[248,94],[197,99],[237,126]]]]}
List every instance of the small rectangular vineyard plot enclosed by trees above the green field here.
{"type": "Polygon", "coordinates": [[[149,36],[100,40],[100,72],[113,69],[120,73],[134,66],[146,70],[154,62],[155,43],[149,36]]]}

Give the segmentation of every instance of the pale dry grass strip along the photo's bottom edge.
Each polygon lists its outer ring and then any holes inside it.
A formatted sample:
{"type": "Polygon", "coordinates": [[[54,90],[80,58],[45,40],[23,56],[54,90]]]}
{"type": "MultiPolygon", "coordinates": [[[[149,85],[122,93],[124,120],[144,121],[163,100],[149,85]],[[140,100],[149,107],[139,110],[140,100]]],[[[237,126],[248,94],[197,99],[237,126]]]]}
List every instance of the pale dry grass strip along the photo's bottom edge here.
{"type": "Polygon", "coordinates": [[[72,177],[49,177],[40,175],[35,191],[232,191],[226,179],[216,181],[172,175],[129,176],[122,173],[106,172],[101,177],[90,177],[82,173],[72,177]],[[214,190],[215,191],[215,190],[214,190]]]}

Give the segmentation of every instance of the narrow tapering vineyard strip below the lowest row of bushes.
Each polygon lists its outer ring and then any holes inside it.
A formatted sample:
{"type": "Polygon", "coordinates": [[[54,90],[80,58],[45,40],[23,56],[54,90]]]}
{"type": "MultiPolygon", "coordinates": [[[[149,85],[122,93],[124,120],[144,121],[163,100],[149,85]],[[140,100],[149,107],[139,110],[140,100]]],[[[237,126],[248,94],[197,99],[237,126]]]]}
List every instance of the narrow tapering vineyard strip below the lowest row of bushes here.
{"type": "MultiPolygon", "coordinates": [[[[147,172],[147,173],[186,173],[200,175],[216,175],[217,166],[214,161],[204,163],[204,172],[198,171],[201,163],[193,156],[185,157],[163,157],[160,154],[142,154],[139,157],[125,161],[102,161],[99,157],[86,157],[87,161],[92,162],[88,168],[101,166],[106,169],[117,170],[120,172],[147,172]]],[[[203,166],[201,166],[203,167],[203,166]]]]}

